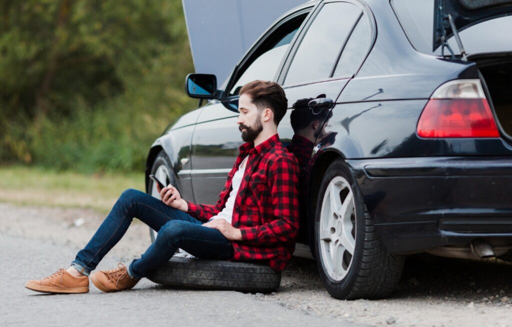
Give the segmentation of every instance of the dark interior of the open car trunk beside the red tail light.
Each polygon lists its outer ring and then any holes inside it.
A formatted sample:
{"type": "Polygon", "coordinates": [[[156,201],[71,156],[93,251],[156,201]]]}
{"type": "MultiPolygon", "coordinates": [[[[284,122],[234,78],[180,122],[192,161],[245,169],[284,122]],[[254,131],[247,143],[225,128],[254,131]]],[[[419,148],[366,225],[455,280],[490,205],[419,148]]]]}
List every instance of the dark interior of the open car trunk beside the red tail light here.
{"type": "Polygon", "coordinates": [[[478,56],[470,60],[477,63],[499,124],[512,139],[512,53],[478,56]]]}

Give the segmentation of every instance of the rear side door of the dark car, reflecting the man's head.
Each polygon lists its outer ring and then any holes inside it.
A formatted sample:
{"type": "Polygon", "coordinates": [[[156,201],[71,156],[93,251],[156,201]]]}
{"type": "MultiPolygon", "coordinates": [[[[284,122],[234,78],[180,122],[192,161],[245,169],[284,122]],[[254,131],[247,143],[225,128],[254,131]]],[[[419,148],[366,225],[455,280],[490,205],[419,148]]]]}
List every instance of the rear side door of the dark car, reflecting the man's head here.
{"type": "MultiPolygon", "coordinates": [[[[321,140],[322,145],[334,143],[336,132],[330,128],[328,122],[332,117],[332,108],[340,92],[366,58],[374,39],[372,31],[374,28],[368,9],[359,2],[323,2],[315,9],[303,32],[298,35],[278,79],[286,92],[289,106],[295,107],[294,110],[301,115],[308,116],[302,119],[302,127],[294,126],[295,135],[307,135],[302,134],[301,130],[308,124],[304,120],[318,120],[318,123],[308,125],[308,128],[314,126],[316,130],[307,136],[312,143],[308,148],[306,167],[301,167],[304,169],[301,174],[301,225],[309,225],[309,228],[301,228],[301,241],[307,239],[310,236],[307,234],[308,230],[312,230],[312,220],[309,219],[308,209],[305,207],[309,199],[307,161],[321,140]],[[329,101],[325,102],[324,107],[311,108],[308,103],[314,98],[329,101]],[[316,147],[313,147],[314,144],[316,147]]],[[[305,154],[298,150],[295,155],[298,158],[305,154]]]]}

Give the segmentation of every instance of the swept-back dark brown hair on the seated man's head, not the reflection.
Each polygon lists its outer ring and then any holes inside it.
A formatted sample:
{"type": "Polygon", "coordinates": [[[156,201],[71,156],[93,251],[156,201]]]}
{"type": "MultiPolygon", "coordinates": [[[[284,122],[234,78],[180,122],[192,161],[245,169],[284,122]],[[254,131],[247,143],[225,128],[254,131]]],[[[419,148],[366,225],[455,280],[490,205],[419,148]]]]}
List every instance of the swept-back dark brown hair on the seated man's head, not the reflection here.
{"type": "Polygon", "coordinates": [[[274,123],[279,125],[288,108],[288,99],[286,99],[285,91],[275,82],[266,82],[255,80],[245,84],[240,89],[240,95],[247,93],[252,98],[252,103],[256,105],[258,110],[270,108],[274,113],[274,123]]]}

